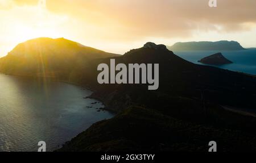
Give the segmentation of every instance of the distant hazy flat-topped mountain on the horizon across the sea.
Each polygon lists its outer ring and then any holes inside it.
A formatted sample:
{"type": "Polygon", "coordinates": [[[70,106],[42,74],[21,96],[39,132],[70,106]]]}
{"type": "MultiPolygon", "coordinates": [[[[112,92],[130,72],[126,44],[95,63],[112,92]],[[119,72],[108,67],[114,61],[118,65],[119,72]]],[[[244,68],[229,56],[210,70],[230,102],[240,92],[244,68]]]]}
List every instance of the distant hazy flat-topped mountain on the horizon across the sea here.
{"type": "Polygon", "coordinates": [[[245,50],[237,41],[200,41],[175,43],[168,47],[171,51],[241,51],[245,50]]]}

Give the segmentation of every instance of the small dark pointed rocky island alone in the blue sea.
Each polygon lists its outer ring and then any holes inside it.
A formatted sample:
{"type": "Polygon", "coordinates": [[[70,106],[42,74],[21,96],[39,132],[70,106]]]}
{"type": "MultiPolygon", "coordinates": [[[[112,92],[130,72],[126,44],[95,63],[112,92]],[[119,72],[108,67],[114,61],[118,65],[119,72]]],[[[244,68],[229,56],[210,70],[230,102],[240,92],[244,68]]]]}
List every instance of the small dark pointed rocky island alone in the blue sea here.
{"type": "Polygon", "coordinates": [[[224,65],[224,64],[233,64],[232,61],[225,58],[221,53],[216,53],[214,55],[205,57],[201,59],[199,62],[203,64],[209,65],[224,65]]]}

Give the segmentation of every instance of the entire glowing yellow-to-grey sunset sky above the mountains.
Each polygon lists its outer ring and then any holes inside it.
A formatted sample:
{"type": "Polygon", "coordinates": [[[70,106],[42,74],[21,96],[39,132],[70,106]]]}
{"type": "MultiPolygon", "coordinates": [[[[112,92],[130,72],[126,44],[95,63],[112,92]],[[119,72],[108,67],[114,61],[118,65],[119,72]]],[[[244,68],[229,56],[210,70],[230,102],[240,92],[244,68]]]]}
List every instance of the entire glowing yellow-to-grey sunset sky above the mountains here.
{"type": "Polygon", "coordinates": [[[0,0],[0,56],[36,37],[123,54],[152,41],[235,40],[256,47],[256,1],[0,0]]]}

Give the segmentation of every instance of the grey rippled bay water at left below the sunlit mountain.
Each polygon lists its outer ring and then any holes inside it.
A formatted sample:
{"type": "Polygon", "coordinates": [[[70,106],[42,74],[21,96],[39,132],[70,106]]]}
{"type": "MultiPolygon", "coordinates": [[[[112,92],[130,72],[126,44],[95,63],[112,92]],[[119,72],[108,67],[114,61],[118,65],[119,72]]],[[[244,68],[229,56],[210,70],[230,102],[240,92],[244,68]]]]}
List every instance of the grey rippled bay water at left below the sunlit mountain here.
{"type": "Polygon", "coordinates": [[[0,74],[0,91],[0,151],[37,151],[39,141],[53,151],[93,123],[113,117],[97,112],[102,103],[83,98],[91,91],[67,83],[0,74]]]}

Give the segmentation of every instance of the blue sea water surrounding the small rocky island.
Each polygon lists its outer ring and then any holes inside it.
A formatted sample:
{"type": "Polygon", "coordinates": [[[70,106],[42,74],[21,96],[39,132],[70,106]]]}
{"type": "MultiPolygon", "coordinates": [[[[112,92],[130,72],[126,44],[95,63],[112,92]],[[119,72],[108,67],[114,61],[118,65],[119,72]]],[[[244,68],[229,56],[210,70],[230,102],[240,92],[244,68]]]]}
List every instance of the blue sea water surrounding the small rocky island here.
{"type": "Polygon", "coordinates": [[[195,64],[201,64],[197,62],[201,58],[213,55],[214,53],[221,52],[226,58],[234,62],[233,64],[217,66],[218,68],[233,70],[236,72],[243,72],[249,74],[256,74],[256,51],[187,51],[179,52],[174,51],[177,56],[184,58],[187,61],[191,61],[195,64]]]}

